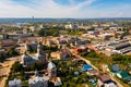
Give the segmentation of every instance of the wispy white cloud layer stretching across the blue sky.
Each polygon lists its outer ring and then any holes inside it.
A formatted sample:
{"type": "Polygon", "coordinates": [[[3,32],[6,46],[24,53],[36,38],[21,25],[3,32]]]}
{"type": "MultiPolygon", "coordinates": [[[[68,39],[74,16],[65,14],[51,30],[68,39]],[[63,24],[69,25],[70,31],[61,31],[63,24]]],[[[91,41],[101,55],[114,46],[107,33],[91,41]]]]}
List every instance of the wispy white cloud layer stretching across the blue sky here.
{"type": "Polygon", "coordinates": [[[91,8],[96,0],[75,3],[70,0],[69,5],[62,5],[53,0],[31,0],[28,4],[20,4],[12,0],[0,1],[0,17],[108,17],[130,16],[130,5],[116,5],[107,10],[91,8]],[[85,9],[86,7],[86,9],[85,9]]]}

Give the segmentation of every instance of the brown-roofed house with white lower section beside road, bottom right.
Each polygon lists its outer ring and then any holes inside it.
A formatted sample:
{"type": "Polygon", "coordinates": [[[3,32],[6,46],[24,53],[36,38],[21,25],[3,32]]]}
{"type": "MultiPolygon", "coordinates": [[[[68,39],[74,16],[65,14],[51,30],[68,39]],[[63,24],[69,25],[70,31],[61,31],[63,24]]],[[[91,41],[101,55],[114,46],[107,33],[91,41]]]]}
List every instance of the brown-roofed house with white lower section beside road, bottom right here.
{"type": "Polygon", "coordinates": [[[98,76],[98,87],[117,87],[116,82],[114,82],[108,75],[98,76]]]}

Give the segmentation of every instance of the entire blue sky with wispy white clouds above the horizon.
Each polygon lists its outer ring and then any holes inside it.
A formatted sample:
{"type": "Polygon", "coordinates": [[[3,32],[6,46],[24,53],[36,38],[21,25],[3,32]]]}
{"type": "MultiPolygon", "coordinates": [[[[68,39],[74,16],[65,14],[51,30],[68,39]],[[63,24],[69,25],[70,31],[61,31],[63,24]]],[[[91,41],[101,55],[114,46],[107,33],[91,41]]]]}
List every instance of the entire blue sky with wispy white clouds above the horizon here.
{"type": "Polygon", "coordinates": [[[0,17],[131,17],[131,0],[0,0],[0,17]]]}

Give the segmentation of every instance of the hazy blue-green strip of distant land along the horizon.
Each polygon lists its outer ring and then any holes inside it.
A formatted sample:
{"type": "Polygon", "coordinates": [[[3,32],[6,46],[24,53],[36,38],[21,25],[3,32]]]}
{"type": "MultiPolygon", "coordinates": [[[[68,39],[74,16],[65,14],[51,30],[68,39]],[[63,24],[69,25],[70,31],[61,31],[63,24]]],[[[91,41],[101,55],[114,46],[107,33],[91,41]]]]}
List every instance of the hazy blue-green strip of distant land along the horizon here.
{"type": "Polygon", "coordinates": [[[55,22],[104,22],[104,21],[131,21],[131,17],[96,17],[96,18],[43,18],[43,17],[0,17],[0,23],[55,23],[55,22]]]}

